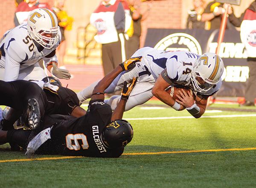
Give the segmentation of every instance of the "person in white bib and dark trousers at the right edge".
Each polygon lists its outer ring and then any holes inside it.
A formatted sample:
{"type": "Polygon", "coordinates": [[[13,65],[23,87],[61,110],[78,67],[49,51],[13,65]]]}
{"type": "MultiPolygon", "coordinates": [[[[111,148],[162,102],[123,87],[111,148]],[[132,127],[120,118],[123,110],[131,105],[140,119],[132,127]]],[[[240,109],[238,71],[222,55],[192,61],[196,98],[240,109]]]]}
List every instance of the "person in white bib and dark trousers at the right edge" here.
{"type": "Polygon", "coordinates": [[[249,67],[249,78],[245,88],[245,103],[241,106],[254,106],[256,98],[256,0],[237,18],[233,14],[230,4],[228,6],[228,14],[230,23],[236,27],[241,27],[240,37],[247,51],[247,62],[249,67]]]}

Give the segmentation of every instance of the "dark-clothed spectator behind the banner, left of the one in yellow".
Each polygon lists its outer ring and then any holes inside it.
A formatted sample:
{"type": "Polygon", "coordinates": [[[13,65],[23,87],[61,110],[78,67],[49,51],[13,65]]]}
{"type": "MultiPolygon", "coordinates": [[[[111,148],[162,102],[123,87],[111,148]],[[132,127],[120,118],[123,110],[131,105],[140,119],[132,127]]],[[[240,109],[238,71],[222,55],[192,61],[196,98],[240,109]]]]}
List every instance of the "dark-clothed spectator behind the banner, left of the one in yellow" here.
{"type": "Polygon", "coordinates": [[[204,0],[193,0],[194,9],[188,11],[188,18],[186,27],[189,29],[201,28],[204,29],[205,23],[201,21],[202,14],[204,13],[205,2],[204,0]]]}

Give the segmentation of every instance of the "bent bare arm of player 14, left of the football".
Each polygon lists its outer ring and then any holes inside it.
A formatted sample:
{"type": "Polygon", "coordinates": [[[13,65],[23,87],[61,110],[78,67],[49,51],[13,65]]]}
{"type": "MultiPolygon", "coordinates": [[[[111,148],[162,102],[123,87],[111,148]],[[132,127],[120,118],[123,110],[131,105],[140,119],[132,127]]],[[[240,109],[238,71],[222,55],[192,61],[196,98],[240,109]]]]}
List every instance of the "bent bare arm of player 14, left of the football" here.
{"type": "Polygon", "coordinates": [[[178,104],[169,93],[165,91],[172,84],[172,81],[169,79],[166,69],[161,72],[157,78],[156,83],[152,89],[152,94],[161,100],[163,103],[171,106],[177,111],[184,110],[184,106],[178,104]]]}

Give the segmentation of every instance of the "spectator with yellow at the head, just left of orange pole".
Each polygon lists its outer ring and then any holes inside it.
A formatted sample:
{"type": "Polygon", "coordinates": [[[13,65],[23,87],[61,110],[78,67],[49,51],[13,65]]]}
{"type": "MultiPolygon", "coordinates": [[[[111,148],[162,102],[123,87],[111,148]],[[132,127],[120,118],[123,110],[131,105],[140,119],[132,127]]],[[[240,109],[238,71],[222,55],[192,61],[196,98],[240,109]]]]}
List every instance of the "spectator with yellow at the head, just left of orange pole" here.
{"type": "Polygon", "coordinates": [[[201,21],[205,23],[205,29],[219,29],[221,26],[221,15],[225,12],[222,3],[210,2],[202,14],[201,21]]]}

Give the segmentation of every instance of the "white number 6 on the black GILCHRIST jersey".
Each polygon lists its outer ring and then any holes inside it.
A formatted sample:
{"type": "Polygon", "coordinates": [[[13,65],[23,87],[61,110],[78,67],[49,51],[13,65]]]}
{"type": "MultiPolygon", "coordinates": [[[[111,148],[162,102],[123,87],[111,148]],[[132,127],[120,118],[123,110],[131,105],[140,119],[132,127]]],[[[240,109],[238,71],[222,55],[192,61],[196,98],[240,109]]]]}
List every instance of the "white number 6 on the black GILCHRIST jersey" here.
{"type": "Polygon", "coordinates": [[[88,149],[89,144],[87,142],[87,137],[84,134],[67,134],[66,145],[70,150],[78,151],[81,149],[88,149]],[[79,143],[79,140],[81,142],[79,143]],[[80,145],[81,144],[81,145],[80,145]]]}

